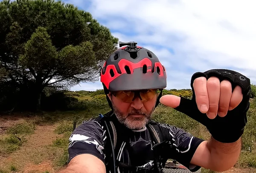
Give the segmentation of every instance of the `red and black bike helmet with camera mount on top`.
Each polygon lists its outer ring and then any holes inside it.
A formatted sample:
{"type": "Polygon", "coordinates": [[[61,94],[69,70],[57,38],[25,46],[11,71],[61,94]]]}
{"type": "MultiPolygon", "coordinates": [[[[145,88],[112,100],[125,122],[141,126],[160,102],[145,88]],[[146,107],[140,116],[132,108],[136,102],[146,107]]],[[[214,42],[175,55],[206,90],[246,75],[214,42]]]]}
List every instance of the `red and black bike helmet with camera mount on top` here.
{"type": "Polygon", "coordinates": [[[122,43],[104,62],[100,81],[108,91],[166,88],[166,69],[157,56],[136,42],[122,43]]]}

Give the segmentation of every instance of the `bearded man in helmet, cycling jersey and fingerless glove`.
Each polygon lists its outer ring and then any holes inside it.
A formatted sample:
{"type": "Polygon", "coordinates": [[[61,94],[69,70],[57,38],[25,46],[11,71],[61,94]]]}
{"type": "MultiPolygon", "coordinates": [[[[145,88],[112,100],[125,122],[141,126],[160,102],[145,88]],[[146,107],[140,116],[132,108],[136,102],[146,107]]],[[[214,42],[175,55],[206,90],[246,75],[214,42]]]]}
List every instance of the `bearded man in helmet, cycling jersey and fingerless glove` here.
{"type": "Polygon", "coordinates": [[[166,159],[175,159],[192,172],[200,167],[230,169],[240,154],[250,79],[223,69],[198,72],[191,80],[192,100],[161,97],[166,69],[154,53],[136,44],[126,43],[104,63],[101,82],[112,111],[103,116],[107,121],[93,118],[73,131],[68,166],[61,173],[160,173],[166,159]],[[205,125],[211,139],[151,121],[159,102],[205,125]],[[113,133],[107,128],[109,121],[116,129],[113,133]]]}

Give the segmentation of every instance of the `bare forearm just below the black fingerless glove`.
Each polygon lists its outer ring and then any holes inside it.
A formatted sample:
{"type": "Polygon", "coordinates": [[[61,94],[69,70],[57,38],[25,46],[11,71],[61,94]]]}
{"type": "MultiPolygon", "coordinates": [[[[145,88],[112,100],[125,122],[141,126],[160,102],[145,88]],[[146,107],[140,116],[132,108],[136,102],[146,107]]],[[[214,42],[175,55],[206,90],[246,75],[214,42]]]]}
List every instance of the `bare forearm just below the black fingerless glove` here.
{"type": "Polygon", "coordinates": [[[209,164],[212,170],[225,171],[236,164],[241,152],[241,138],[233,143],[221,143],[211,138],[207,142],[210,157],[209,164]]]}

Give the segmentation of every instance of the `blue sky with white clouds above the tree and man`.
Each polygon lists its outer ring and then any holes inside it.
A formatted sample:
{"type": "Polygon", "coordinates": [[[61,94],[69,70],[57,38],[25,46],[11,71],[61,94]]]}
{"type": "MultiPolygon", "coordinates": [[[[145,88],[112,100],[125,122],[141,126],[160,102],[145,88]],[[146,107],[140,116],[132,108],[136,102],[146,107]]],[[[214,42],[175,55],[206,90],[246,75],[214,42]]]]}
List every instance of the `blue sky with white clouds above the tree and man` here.
{"type": "MultiPolygon", "coordinates": [[[[64,0],[90,12],[122,42],[136,41],[166,67],[167,88],[190,88],[198,71],[227,68],[256,84],[256,1],[64,0]]],[[[95,91],[87,82],[73,91],[95,91]]]]}

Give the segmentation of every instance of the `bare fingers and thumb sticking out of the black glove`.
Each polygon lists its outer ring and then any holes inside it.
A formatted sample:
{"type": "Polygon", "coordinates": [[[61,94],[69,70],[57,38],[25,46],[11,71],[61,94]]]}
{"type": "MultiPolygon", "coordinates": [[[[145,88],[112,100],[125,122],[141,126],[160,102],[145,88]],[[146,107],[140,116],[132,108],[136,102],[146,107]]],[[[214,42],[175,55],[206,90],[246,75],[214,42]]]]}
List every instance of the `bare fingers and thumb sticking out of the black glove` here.
{"type": "MultiPolygon", "coordinates": [[[[193,83],[195,100],[201,113],[206,113],[208,118],[214,119],[217,115],[224,117],[227,111],[236,108],[243,99],[242,89],[236,86],[233,90],[231,82],[220,80],[217,77],[198,77],[193,83]],[[233,92],[232,92],[233,90],[233,92]]],[[[176,108],[180,105],[180,97],[165,95],[160,98],[163,105],[176,108]]]]}

